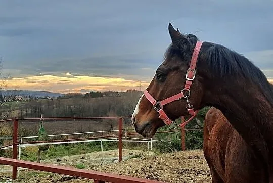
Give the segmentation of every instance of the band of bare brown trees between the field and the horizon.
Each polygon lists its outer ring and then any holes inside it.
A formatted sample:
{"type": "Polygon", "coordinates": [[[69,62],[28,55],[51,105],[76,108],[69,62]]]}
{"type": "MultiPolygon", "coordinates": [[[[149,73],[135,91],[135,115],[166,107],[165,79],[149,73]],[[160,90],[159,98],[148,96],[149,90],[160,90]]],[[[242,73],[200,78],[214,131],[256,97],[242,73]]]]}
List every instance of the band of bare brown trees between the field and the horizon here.
{"type": "Polygon", "coordinates": [[[87,94],[70,93],[57,99],[8,102],[0,106],[0,115],[5,118],[40,117],[41,114],[44,117],[130,116],[143,93],[128,90],[122,95],[112,91],[87,94]]]}

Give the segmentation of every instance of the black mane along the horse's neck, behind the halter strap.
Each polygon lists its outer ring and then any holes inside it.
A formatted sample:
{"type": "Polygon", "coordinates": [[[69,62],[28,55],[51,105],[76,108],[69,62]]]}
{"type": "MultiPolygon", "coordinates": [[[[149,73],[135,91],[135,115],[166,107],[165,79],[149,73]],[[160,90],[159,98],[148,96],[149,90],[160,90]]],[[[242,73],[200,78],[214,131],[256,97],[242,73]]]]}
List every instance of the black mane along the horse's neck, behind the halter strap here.
{"type": "Polygon", "coordinates": [[[206,50],[206,61],[211,72],[221,78],[243,76],[257,84],[264,96],[273,104],[273,85],[269,83],[264,73],[250,60],[223,45],[212,44],[206,50]]]}

